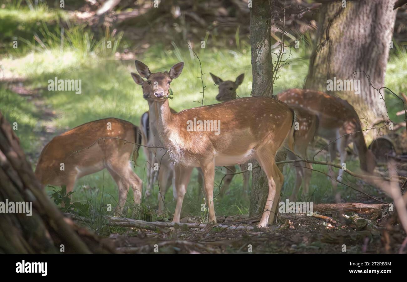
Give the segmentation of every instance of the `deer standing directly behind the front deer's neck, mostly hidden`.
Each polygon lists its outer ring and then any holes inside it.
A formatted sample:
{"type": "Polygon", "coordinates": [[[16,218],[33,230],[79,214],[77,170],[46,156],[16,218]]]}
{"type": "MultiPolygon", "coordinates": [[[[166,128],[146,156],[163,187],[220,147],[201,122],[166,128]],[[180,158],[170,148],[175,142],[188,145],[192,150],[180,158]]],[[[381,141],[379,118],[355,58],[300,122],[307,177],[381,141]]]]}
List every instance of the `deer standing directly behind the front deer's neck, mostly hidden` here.
{"type": "MultiPolygon", "coordinates": [[[[142,143],[147,146],[143,149],[150,167],[147,172],[148,187],[146,190],[147,193],[150,193],[157,179],[157,171],[154,170],[155,163],[157,163],[159,165],[158,186],[160,187],[160,192],[158,193],[158,214],[162,214],[164,212],[165,194],[168,187],[170,187],[175,180],[174,168],[173,165],[171,165],[168,154],[166,154],[166,150],[162,148],[163,146],[159,138],[157,129],[158,109],[155,108],[154,101],[151,99],[150,94],[153,93],[153,85],[149,81],[142,79],[142,77],[136,73],[131,73],[131,77],[133,77],[136,84],[141,85],[143,98],[146,99],[149,104],[149,110],[144,112],[141,117],[142,143]]],[[[172,113],[176,113],[175,110],[170,110],[172,113]]],[[[173,192],[175,198],[175,185],[173,192]]]]}

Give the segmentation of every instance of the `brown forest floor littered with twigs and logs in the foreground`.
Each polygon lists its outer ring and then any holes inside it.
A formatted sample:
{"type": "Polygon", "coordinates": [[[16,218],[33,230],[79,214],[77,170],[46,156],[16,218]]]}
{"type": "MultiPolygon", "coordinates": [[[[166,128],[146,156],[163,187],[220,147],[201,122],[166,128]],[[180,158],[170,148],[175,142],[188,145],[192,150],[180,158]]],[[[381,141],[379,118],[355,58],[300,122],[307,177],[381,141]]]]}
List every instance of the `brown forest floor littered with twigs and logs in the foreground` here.
{"type": "MultiPolygon", "coordinates": [[[[340,213],[324,213],[331,219],[306,214],[283,214],[274,226],[257,228],[258,218],[217,217],[206,228],[187,227],[199,223],[197,217],[183,218],[175,228],[155,230],[114,227],[106,239],[123,253],[406,253],[405,234],[399,226],[379,224],[369,214],[369,222],[356,226],[340,213]],[[331,221],[332,220],[332,221],[331,221]]],[[[348,213],[349,214],[349,213],[348,213]]],[[[352,213],[353,214],[353,213],[352,213]]],[[[381,217],[381,215],[379,216],[381,217]]],[[[359,220],[362,220],[359,218],[359,220]]],[[[125,220],[124,220],[125,221],[125,220]]],[[[363,220],[362,220],[363,221],[363,220]]],[[[391,220],[390,220],[391,221],[391,220]]]]}

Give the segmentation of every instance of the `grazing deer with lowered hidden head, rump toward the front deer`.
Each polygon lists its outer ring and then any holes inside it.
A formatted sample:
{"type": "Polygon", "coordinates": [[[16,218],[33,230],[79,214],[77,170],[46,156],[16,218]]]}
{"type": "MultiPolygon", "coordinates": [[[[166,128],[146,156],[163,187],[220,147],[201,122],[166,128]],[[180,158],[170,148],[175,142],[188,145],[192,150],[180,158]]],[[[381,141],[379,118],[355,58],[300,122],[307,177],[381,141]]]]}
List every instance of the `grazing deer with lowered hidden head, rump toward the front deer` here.
{"type": "Polygon", "coordinates": [[[116,212],[122,213],[129,187],[134,202],[141,203],[142,181],[131,169],[141,144],[140,129],[116,118],[99,119],[75,127],[54,137],[39,156],[35,176],[42,185],[66,185],[68,194],[77,179],[104,168],[119,190],[116,212]],[[124,139],[128,142],[118,139],[124,139]]]}

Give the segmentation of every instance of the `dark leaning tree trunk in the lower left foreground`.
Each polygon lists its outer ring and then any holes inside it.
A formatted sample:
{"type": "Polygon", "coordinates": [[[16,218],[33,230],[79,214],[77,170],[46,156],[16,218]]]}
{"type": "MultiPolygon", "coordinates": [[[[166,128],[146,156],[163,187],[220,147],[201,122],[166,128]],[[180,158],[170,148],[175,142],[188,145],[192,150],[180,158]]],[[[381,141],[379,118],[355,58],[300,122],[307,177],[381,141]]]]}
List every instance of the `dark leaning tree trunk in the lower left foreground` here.
{"type": "MultiPolygon", "coordinates": [[[[20,148],[18,137],[0,112],[0,205],[32,203],[26,213],[0,213],[0,253],[111,253],[98,236],[65,218],[42,189],[20,148]]],[[[8,206],[5,207],[8,209],[8,206]]]]}

